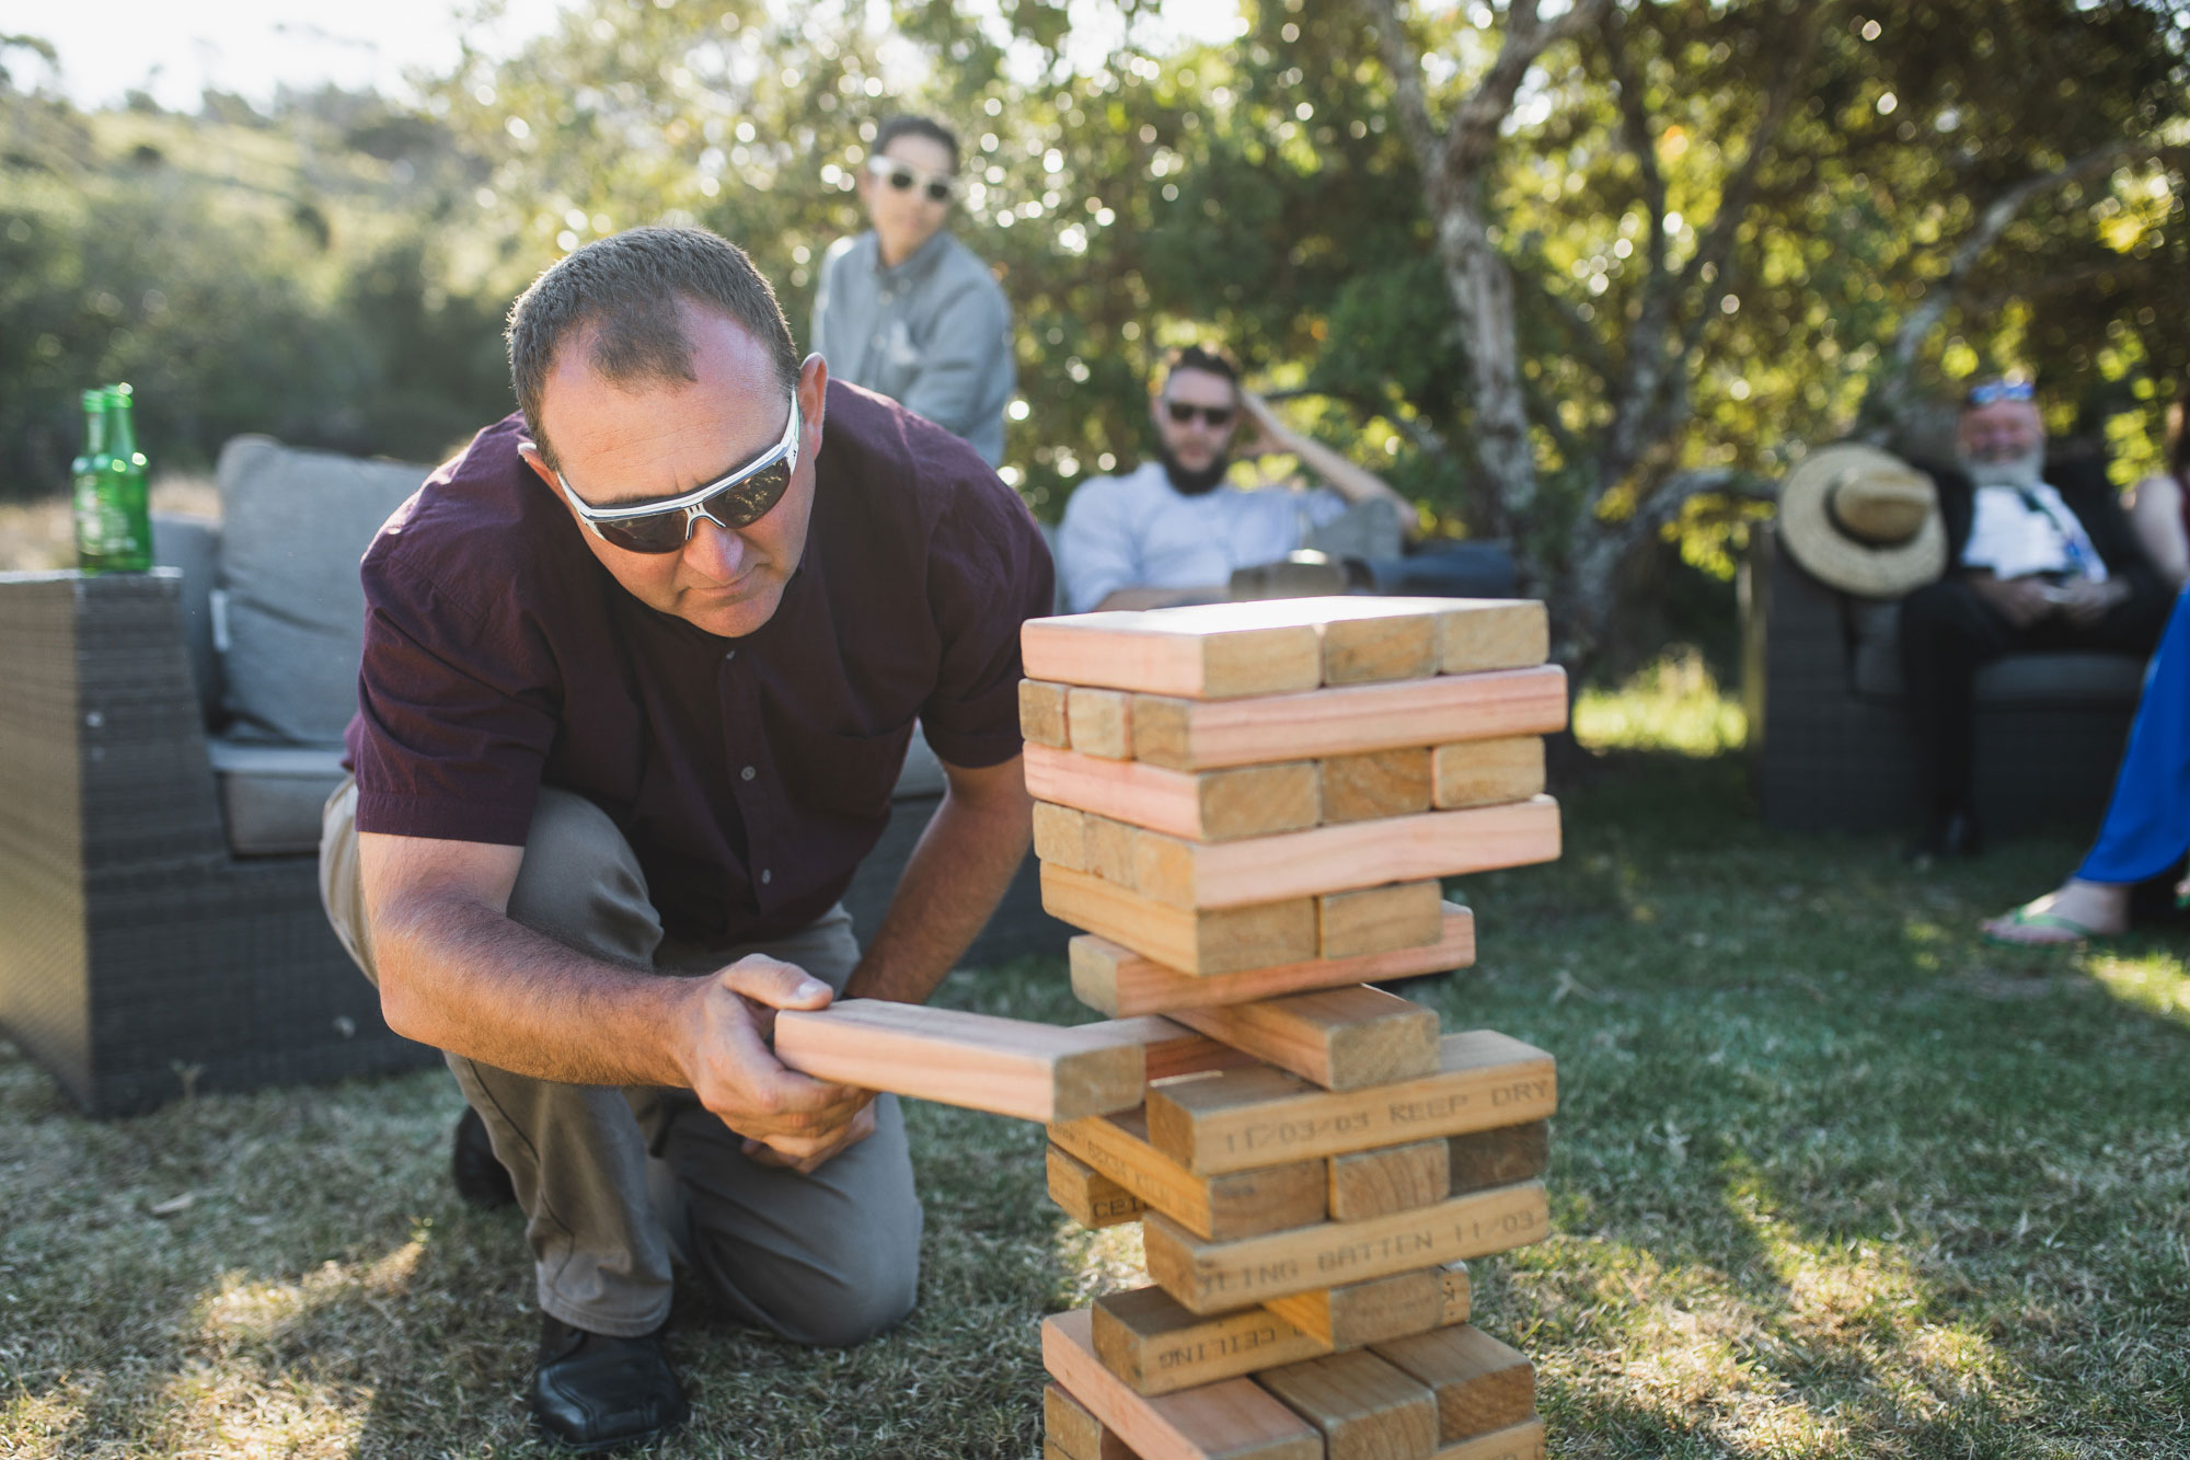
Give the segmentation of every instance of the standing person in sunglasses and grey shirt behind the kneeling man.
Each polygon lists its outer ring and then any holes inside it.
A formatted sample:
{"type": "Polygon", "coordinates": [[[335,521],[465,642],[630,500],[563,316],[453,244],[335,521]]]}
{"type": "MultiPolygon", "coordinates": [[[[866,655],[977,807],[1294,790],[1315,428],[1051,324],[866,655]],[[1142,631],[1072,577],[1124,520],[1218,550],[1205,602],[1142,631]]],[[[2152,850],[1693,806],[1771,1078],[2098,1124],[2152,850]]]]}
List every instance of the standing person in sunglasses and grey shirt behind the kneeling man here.
{"type": "Polygon", "coordinates": [[[1018,384],[1012,307],[988,265],[944,230],[957,160],[957,138],[926,116],[880,125],[858,175],[874,228],[821,256],[812,349],[832,377],[964,436],[994,467],[1018,384]]]}

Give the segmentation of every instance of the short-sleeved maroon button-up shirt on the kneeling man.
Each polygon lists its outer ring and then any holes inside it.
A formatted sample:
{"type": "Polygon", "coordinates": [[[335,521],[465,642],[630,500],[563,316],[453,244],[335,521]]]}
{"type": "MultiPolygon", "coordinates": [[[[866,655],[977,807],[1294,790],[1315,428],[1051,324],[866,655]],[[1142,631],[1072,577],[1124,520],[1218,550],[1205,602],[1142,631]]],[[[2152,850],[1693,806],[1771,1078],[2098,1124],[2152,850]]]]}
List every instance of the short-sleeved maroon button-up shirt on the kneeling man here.
{"type": "Polygon", "coordinates": [[[563,787],[624,831],[672,936],[734,943],[843,894],[913,719],[948,765],[1018,754],[1049,550],[957,436],[830,381],[806,555],[745,638],[624,592],[523,438],[480,432],[366,550],[359,831],[521,846],[563,787]]]}

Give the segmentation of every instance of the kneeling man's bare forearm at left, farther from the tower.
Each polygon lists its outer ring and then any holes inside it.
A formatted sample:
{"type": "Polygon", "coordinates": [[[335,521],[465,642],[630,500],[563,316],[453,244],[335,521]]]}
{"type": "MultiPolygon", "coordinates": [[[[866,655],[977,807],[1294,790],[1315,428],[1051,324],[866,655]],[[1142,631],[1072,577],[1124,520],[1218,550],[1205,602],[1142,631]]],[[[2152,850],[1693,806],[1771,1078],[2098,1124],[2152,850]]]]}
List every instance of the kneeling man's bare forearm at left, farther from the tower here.
{"type": "Polygon", "coordinates": [[[683,1085],[685,980],[589,958],[462,897],[374,921],[381,1006],[399,1035],[569,1085],[683,1085]]]}

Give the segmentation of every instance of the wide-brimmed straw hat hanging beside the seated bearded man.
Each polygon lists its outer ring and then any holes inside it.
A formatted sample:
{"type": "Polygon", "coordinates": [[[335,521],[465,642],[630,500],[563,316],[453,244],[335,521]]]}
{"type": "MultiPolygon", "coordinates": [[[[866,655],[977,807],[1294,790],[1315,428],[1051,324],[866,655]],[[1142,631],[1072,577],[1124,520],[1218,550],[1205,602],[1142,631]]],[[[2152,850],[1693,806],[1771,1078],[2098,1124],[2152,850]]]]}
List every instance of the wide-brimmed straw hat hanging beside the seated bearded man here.
{"type": "Polygon", "coordinates": [[[1866,445],[1811,452],[1780,484],[1778,537],[1811,577],[1899,598],[1947,570],[1932,478],[1866,445]]]}

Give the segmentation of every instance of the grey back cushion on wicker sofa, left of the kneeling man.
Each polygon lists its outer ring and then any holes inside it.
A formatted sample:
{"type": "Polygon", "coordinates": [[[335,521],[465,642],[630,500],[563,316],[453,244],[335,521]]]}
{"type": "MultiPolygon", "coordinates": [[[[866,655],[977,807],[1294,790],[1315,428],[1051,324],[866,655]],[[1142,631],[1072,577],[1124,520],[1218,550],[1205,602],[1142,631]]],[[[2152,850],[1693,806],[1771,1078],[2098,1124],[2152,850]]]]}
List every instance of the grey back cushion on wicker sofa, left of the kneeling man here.
{"type": "Polygon", "coordinates": [[[239,739],[333,745],[357,710],[366,594],[381,522],[431,467],[300,452],[267,436],[221,449],[223,706],[239,739]]]}

